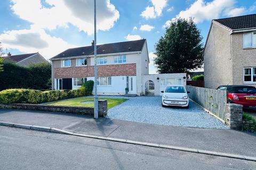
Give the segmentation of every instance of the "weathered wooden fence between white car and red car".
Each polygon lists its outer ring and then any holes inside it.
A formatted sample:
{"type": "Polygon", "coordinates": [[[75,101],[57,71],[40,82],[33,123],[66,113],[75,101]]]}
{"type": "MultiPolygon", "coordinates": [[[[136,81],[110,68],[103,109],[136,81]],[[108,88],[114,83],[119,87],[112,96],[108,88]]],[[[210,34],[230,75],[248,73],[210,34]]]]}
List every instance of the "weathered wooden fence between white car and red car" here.
{"type": "Polygon", "coordinates": [[[186,86],[188,97],[226,121],[227,91],[186,86]]]}

